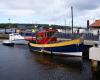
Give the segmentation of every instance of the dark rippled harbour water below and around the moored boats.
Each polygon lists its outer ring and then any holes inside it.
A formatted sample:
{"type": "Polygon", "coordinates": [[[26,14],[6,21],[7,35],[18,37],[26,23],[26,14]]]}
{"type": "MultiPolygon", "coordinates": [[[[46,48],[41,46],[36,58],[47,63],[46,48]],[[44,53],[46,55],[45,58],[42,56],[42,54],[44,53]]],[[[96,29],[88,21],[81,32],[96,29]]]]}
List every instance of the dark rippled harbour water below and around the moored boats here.
{"type": "Polygon", "coordinates": [[[100,80],[89,60],[30,52],[26,45],[0,44],[0,80],[100,80]]]}

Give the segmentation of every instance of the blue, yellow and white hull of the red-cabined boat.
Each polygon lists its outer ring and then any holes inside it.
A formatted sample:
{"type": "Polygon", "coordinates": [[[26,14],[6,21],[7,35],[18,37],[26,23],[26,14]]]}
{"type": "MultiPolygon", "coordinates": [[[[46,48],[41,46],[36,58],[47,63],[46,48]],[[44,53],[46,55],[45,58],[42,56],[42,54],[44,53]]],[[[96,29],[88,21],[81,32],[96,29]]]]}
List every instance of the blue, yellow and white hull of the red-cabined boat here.
{"type": "Polygon", "coordinates": [[[29,43],[29,48],[31,51],[73,56],[82,56],[82,53],[87,49],[87,47],[82,44],[79,39],[45,45],[29,43]]]}

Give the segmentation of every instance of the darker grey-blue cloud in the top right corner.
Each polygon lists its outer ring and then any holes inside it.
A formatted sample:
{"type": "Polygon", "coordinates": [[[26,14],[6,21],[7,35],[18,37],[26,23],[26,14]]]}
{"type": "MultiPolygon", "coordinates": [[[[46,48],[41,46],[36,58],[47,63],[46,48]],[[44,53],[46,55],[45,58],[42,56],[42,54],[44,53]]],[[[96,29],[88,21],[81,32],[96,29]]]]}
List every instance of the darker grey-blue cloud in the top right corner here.
{"type": "MultiPolygon", "coordinates": [[[[96,0],[70,0],[68,5],[74,6],[77,10],[91,10],[99,7],[99,2],[96,0]],[[93,3],[93,4],[91,4],[93,3]]],[[[66,3],[67,4],[67,3],[66,3]]]]}

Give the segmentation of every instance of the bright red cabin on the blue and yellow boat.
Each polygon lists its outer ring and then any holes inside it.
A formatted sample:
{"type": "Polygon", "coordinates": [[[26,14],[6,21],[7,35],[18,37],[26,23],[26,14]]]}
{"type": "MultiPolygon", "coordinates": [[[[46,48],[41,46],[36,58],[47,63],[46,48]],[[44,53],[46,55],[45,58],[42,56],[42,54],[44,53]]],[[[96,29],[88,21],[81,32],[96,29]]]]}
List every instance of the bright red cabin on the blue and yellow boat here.
{"type": "Polygon", "coordinates": [[[37,44],[49,44],[57,42],[57,37],[55,37],[56,29],[44,29],[42,31],[36,32],[36,43],[37,44]]]}

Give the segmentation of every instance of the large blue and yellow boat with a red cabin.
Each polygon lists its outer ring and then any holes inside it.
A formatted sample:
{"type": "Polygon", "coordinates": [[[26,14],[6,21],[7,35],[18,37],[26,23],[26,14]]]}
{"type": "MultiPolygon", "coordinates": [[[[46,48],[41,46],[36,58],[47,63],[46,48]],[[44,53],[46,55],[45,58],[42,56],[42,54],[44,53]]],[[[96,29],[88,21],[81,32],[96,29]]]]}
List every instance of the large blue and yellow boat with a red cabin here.
{"type": "Polygon", "coordinates": [[[82,56],[86,50],[81,38],[71,40],[59,40],[55,36],[56,29],[44,29],[36,32],[36,38],[28,43],[31,51],[53,54],[82,56]]]}

